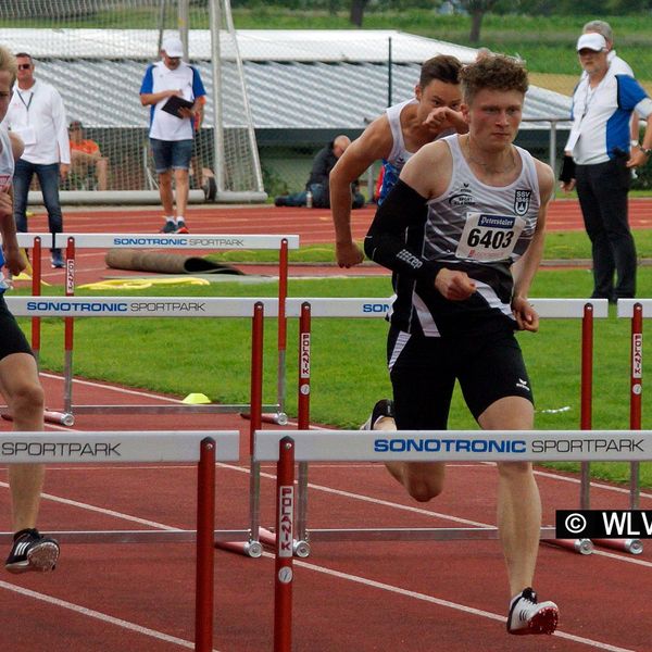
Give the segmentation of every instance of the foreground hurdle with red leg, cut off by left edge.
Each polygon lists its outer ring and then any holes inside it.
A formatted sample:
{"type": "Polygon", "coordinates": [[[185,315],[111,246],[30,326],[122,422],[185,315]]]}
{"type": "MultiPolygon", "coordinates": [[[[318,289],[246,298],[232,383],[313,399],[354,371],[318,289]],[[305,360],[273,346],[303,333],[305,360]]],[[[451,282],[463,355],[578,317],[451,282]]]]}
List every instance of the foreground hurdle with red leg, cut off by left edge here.
{"type": "MultiPolygon", "coordinates": [[[[103,432],[5,432],[0,434],[0,463],[197,463],[197,531],[155,531],[156,541],[197,542],[195,578],[195,650],[213,650],[215,462],[239,460],[240,435],[237,430],[198,431],[103,431],[103,432]],[[191,535],[191,536],[189,536],[191,535]]],[[[146,534],[143,530],[141,534],[146,534]]],[[[125,542],[124,532],[52,532],[64,542],[125,542]],[[64,536],[61,536],[61,535],[64,536]]],[[[148,540],[131,532],[129,541],[148,540]]],[[[12,541],[12,532],[0,535],[12,541]]]]}

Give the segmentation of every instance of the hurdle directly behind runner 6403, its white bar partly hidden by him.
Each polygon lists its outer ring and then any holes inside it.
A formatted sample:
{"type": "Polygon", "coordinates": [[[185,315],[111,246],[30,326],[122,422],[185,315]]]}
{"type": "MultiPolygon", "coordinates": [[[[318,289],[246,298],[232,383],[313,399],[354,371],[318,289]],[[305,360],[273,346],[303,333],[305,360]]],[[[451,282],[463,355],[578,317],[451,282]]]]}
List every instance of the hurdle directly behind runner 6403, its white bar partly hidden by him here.
{"type": "MultiPolygon", "coordinates": [[[[531,304],[541,318],[581,318],[581,377],[580,377],[580,427],[590,429],[592,410],[592,331],[593,318],[609,316],[609,303],[605,299],[531,299],[531,304]]],[[[288,299],[288,317],[300,317],[299,329],[299,428],[308,429],[310,423],[310,352],[311,334],[310,321],[313,317],[347,317],[367,318],[384,317],[390,310],[391,299],[378,298],[346,298],[346,299],[288,299]]],[[[269,306],[274,310],[274,305],[269,306]]],[[[262,334],[259,335],[262,338],[262,334]]],[[[262,340],[261,340],[262,341],[262,340]]],[[[261,346],[258,349],[262,350],[261,346]]],[[[262,367],[262,361],[255,364],[262,367]]],[[[252,396],[254,389],[252,388],[252,396]]],[[[335,432],[335,431],[334,431],[335,432]]],[[[252,474],[259,474],[259,465],[252,459],[252,474]]],[[[259,490],[252,484],[252,491],[259,490]]],[[[589,475],[585,474],[580,484],[580,500],[589,493],[589,475]],[[586,484],[586,487],[584,486],[586,484]]],[[[497,528],[360,528],[360,529],[308,529],[308,465],[299,464],[299,485],[297,491],[298,517],[296,527],[294,553],[297,556],[310,555],[311,541],[390,541],[397,539],[410,540],[452,540],[452,539],[497,539],[497,528]]],[[[258,498],[252,499],[252,510],[258,509],[258,498]]],[[[582,507],[588,509],[588,507],[582,507]]],[[[268,529],[260,527],[258,514],[251,515],[253,540],[258,541],[255,532],[261,532],[260,540],[269,546],[276,544],[276,536],[268,529]]],[[[559,540],[554,537],[554,528],[542,527],[541,539],[547,543],[568,548],[580,554],[590,554],[592,543],[588,539],[559,540]]],[[[251,542],[251,541],[250,541],[251,542]]],[[[240,551],[240,550],[238,550],[240,551]]]]}

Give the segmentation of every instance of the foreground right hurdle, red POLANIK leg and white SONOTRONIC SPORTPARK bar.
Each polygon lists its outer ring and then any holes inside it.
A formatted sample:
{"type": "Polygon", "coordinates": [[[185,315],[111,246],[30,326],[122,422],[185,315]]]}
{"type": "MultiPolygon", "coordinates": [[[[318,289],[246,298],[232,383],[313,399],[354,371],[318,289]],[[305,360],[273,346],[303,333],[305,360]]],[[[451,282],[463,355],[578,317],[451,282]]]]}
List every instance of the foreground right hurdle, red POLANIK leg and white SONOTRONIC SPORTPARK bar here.
{"type": "Polygon", "coordinates": [[[652,460],[652,430],[636,432],[640,450],[636,452],[597,451],[591,439],[619,440],[623,430],[593,430],[591,438],[582,435],[580,450],[564,446],[577,430],[511,430],[491,432],[478,430],[410,431],[402,439],[414,442],[404,450],[377,447],[381,431],[361,430],[260,430],[255,434],[254,459],[258,463],[277,464],[278,537],[274,568],[274,651],[291,652],[292,556],[287,554],[287,537],[293,528],[293,496],[288,491],[294,482],[294,462],[554,462],[554,461],[649,461],[652,460]],[[491,440],[488,435],[493,436],[491,440]],[[497,446],[490,446],[493,441],[497,446]],[[427,443],[426,443],[427,442],[427,443]],[[586,446],[585,446],[586,443],[586,446]],[[378,450],[378,449],[381,450],[378,450]]]}

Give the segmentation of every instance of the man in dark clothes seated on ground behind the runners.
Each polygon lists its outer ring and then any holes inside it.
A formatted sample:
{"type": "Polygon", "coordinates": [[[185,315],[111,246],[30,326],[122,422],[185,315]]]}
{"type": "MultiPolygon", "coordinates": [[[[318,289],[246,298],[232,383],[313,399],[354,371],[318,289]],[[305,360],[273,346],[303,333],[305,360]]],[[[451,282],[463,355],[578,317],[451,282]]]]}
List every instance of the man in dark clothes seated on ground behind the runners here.
{"type": "MultiPolygon", "coordinates": [[[[330,171],[335,167],[338,159],[344,153],[351,145],[351,139],[348,136],[337,136],[325,148],[321,149],[313,160],[310,178],[305,184],[305,190],[296,192],[294,195],[284,195],[274,200],[277,206],[305,206],[315,209],[330,208],[330,189],[329,176],[330,171]],[[312,202],[308,201],[310,196],[312,202]]],[[[358,183],[351,184],[352,190],[352,209],[361,209],[364,206],[364,197],[359,191],[358,183]]]]}

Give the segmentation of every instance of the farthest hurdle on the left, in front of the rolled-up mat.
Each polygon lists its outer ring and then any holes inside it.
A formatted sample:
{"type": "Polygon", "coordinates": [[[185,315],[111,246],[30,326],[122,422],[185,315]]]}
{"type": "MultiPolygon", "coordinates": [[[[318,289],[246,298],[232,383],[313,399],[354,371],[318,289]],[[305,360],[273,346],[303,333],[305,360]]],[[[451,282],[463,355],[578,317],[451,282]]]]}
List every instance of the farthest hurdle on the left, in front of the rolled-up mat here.
{"type": "MultiPolygon", "coordinates": [[[[30,234],[24,234],[30,236],[30,234]]],[[[287,319],[285,315],[285,303],[288,286],[288,251],[299,248],[299,236],[297,235],[178,235],[178,234],[57,234],[54,244],[65,249],[65,296],[75,294],[75,263],[78,249],[163,249],[163,250],[244,250],[244,249],[277,249],[278,250],[278,338],[277,338],[277,392],[276,403],[263,405],[265,414],[271,414],[269,421],[284,425],[287,423],[285,412],[286,403],[286,350],[287,350],[287,319]]],[[[34,255],[36,260],[36,253],[34,255]]],[[[40,256],[39,261],[40,261],[40,256]]],[[[36,269],[34,278],[37,277],[36,269]]],[[[39,274],[40,280],[40,274],[39,274]]],[[[34,283],[34,281],[33,281],[34,283]]],[[[38,283],[40,287],[40,283],[38,283]]],[[[33,285],[33,294],[34,291],[33,285]]],[[[124,414],[125,405],[79,405],[73,403],[73,339],[74,317],[80,315],[68,315],[64,319],[64,391],[63,414],[66,415],[64,425],[73,425],[74,414],[124,414]]],[[[36,319],[38,317],[35,317],[36,319]]],[[[33,318],[33,341],[36,338],[40,346],[40,323],[33,318]]],[[[130,413],[159,414],[166,413],[244,413],[248,405],[222,404],[211,405],[131,405],[130,413]]]]}

